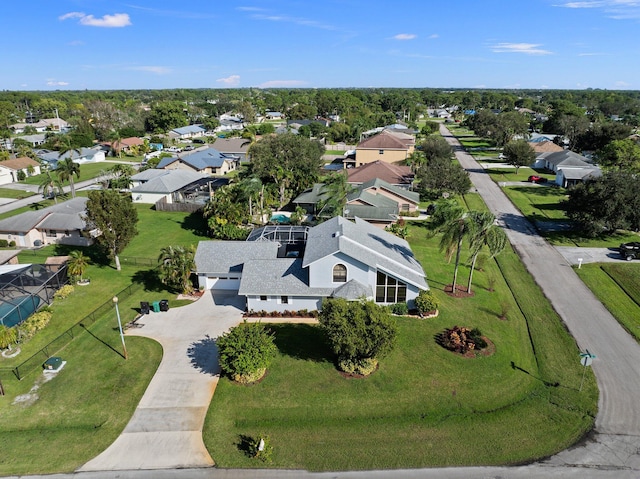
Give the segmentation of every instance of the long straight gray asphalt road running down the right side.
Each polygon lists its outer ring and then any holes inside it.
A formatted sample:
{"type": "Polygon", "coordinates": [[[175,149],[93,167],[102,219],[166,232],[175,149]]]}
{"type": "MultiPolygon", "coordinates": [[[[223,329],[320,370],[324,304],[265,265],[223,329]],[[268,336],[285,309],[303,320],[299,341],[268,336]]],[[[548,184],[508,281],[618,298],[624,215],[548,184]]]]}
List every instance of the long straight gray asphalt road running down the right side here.
{"type": "MultiPolygon", "coordinates": [[[[622,329],[569,263],[513,206],[449,130],[440,132],[529,272],[549,298],[581,350],[596,354],[600,397],[595,434],[584,444],[545,461],[554,465],[638,470],[640,475],[640,345],[622,329]]],[[[576,361],[578,358],[576,358],[576,361]]]]}

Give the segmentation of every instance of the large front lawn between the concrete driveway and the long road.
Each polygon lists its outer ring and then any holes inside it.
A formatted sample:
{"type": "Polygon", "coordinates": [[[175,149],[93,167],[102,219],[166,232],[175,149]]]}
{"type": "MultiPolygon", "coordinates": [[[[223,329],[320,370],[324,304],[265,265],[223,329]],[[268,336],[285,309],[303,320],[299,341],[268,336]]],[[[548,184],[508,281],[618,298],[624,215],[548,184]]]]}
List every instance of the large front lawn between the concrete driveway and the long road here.
{"type": "MultiPolygon", "coordinates": [[[[440,316],[399,318],[397,347],[367,379],[338,374],[317,326],[271,325],[279,354],[264,380],[246,387],[222,378],[214,395],[204,440],[218,466],[265,467],[241,450],[242,436],[262,434],[279,468],[516,464],[568,447],[592,427],[593,376],[579,393],[575,342],[515,253],[484,261],[475,296],[451,298],[443,288],[452,265],[438,238],[410,225],[440,316]],[[479,327],[495,354],[469,359],[442,349],[434,336],[453,325],[479,327]]],[[[462,281],[467,274],[461,268],[462,281]]]]}

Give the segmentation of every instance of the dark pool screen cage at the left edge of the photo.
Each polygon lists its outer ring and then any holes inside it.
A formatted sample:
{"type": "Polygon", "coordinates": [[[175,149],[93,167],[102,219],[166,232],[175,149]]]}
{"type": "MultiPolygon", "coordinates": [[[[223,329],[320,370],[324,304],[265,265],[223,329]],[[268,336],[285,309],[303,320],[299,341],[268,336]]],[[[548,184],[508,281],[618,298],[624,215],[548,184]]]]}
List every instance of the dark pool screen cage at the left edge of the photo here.
{"type": "Polygon", "coordinates": [[[51,304],[66,282],[66,264],[0,266],[0,324],[19,324],[40,306],[51,304]]]}

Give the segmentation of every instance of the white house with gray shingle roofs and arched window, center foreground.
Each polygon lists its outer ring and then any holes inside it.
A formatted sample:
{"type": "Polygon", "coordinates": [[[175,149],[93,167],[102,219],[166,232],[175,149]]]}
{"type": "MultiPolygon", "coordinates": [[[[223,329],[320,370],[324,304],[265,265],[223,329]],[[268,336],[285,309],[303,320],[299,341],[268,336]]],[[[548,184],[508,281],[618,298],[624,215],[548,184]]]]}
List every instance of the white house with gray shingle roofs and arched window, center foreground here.
{"type": "Polygon", "coordinates": [[[199,286],[237,290],[248,310],[267,312],[317,310],[329,297],[407,302],[412,308],[429,288],[409,244],[360,218],[354,223],[338,216],[299,237],[291,250],[281,239],[263,236],[253,242],[201,241],[195,255],[199,286]]]}

